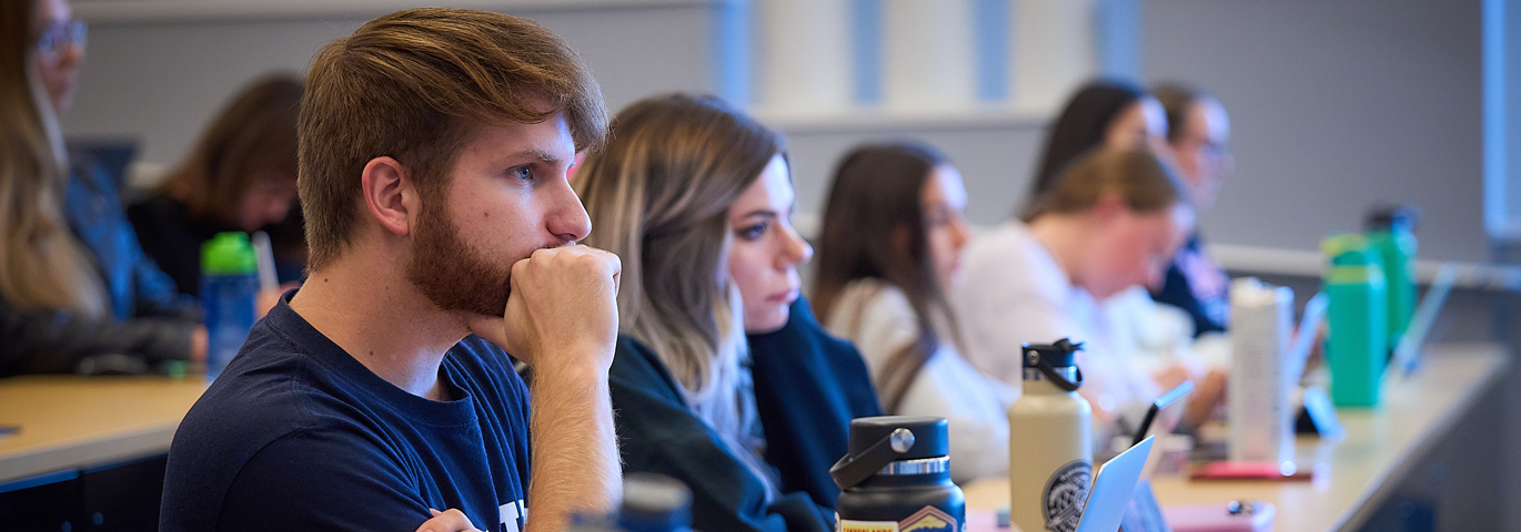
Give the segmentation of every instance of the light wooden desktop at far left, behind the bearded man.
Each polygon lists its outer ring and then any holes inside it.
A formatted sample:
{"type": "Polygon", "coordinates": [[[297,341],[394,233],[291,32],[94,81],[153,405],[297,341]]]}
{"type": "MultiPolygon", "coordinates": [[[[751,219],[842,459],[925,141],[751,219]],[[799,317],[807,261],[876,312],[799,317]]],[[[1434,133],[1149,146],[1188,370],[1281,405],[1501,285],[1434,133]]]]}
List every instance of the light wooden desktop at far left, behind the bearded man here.
{"type": "Polygon", "coordinates": [[[0,482],[169,450],[199,375],[0,378],[0,482]]]}

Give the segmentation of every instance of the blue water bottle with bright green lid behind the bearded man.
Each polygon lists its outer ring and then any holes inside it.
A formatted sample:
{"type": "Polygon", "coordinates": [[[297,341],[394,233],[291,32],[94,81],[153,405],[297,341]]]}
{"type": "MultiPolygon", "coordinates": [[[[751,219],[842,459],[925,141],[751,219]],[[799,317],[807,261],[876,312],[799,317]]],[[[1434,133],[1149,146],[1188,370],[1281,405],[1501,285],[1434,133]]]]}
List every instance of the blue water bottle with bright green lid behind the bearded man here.
{"type": "Polygon", "coordinates": [[[246,233],[218,233],[201,245],[201,304],[205,307],[205,380],[216,380],[254,327],[259,263],[246,233]]]}

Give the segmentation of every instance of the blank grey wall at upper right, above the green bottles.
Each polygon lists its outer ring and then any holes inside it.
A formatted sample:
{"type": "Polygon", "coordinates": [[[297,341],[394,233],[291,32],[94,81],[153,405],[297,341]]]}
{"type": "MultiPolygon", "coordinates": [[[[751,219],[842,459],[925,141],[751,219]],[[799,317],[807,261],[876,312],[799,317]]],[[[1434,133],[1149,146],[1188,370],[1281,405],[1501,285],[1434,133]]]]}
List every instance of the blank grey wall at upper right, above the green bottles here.
{"type": "Polygon", "coordinates": [[[1480,2],[1147,0],[1142,38],[1148,81],[1230,111],[1211,240],[1314,249],[1398,201],[1425,211],[1425,258],[1488,258],[1480,2]]]}

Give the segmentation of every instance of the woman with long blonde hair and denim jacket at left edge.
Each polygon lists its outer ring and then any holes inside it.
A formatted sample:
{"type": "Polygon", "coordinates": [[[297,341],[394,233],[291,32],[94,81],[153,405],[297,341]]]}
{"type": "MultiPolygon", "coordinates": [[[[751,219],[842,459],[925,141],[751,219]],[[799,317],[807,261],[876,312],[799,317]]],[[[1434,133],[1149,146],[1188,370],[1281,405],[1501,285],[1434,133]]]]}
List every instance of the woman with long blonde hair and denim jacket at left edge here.
{"type": "Polygon", "coordinates": [[[143,257],[113,178],[64,155],[84,23],[67,2],[23,0],[0,29],[0,375],[204,357],[195,302],[143,257]]]}

